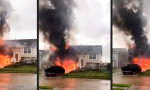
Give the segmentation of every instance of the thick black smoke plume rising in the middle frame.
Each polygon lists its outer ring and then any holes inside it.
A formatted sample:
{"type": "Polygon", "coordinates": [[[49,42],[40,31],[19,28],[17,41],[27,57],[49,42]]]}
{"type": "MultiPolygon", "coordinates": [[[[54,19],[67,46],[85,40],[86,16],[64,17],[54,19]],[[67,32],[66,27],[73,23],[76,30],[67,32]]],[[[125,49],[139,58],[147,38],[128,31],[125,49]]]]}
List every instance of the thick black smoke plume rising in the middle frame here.
{"type": "MultiPolygon", "coordinates": [[[[73,23],[73,0],[44,0],[41,2],[45,7],[40,6],[39,19],[40,30],[45,39],[57,48],[56,56],[61,60],[74,56],[74,50],[67,46],[67,35],[73,23]]],[[[55,55],[54,55],[55,56],[55,55]]]]}

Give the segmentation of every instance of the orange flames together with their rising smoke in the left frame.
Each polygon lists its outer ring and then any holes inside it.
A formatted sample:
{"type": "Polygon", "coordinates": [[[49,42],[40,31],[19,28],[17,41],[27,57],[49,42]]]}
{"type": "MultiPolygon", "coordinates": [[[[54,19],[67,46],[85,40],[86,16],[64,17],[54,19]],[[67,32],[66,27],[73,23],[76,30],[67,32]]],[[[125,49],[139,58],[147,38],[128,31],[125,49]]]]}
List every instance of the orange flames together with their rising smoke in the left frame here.
{"type": "Polygon", "coordinates": [[[7,24],[9,10],[9,2],[7,0],[0,0],[0,68],[10,65],[11,57],[13,56],[12,50],[8,48],[2,40],[5,32],[9,31],[9,26],[7,24]]]}

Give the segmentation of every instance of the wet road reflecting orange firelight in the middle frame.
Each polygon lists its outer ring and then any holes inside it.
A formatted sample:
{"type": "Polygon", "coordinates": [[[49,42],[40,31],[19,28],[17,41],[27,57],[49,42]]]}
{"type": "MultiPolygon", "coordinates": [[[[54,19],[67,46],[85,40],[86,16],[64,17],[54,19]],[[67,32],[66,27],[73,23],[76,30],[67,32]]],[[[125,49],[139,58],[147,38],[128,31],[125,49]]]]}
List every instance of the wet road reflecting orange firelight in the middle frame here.
{"type": "Polygon", "coordinates": [[[110,80],[61,78],[40,76],[40,85],[55,87],[54,90],[110,90],[110,80]]]}

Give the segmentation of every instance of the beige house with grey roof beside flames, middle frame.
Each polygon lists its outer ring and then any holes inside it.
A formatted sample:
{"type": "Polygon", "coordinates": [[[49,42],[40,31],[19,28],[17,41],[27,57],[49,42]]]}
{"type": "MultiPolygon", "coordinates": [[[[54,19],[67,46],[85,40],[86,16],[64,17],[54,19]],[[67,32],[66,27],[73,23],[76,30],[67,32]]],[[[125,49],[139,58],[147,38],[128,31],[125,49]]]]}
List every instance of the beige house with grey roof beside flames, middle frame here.
{"type": "Polygon", "coordinates": [[[81,68],[100,68],[102,63],[101,45],[76,45],[71,46],[79,55],[77,67],[81,68]]]}

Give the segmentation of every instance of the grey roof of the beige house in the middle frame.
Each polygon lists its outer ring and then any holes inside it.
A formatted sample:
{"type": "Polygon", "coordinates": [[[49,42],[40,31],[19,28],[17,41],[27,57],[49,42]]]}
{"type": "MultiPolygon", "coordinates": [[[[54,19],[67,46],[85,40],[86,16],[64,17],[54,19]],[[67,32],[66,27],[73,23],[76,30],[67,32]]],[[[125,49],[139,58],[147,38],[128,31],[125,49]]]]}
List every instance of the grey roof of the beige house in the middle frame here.
{"type": "Polygon", "coordinates": [[[71,45],[79,53],[102,53],[101,45],[71,45]]]}

